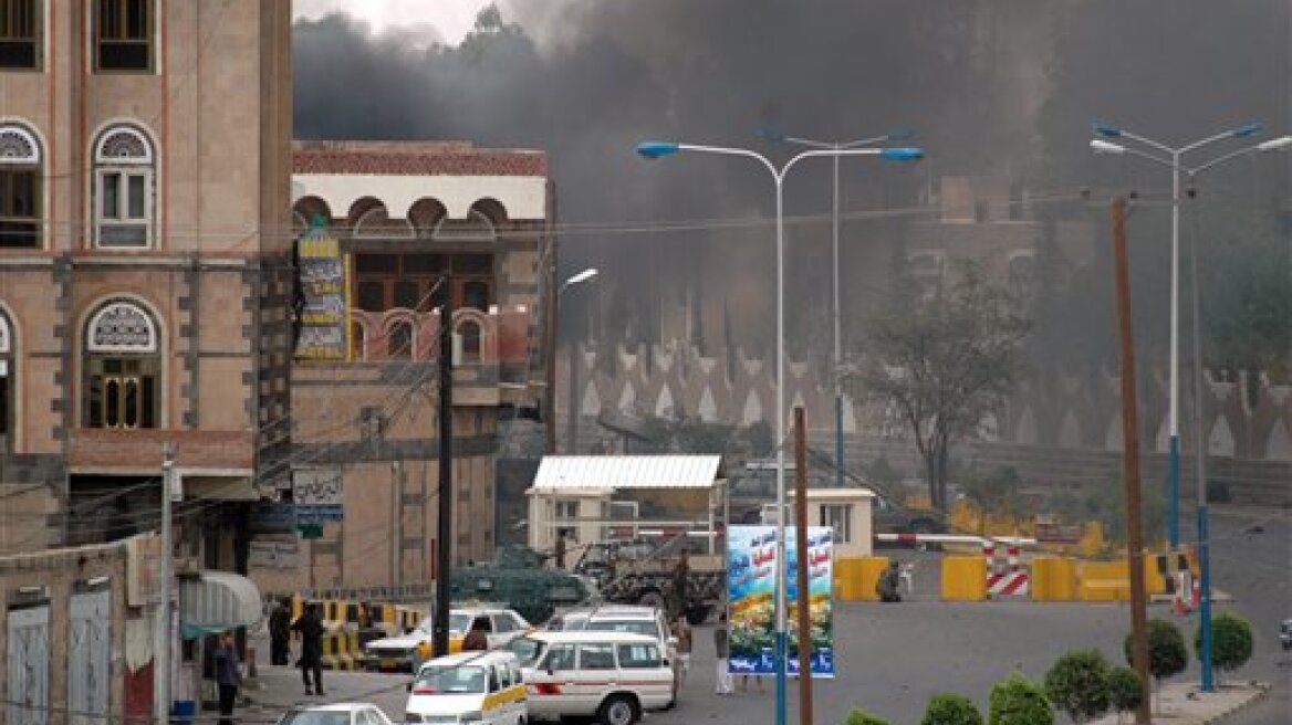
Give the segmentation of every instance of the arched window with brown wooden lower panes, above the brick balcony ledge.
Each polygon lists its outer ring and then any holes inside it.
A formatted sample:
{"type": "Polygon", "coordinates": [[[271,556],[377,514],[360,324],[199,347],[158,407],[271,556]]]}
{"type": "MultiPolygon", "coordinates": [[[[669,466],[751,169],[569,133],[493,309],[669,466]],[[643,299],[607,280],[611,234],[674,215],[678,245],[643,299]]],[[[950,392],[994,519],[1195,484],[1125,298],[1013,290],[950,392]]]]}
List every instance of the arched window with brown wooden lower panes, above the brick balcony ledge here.
{"type": "Polygon", "coordinates": [[[152,316],[109,302],[85,325],[84,421],[89,428],[155,428],[162,410],[162,355],[152,316]]]}

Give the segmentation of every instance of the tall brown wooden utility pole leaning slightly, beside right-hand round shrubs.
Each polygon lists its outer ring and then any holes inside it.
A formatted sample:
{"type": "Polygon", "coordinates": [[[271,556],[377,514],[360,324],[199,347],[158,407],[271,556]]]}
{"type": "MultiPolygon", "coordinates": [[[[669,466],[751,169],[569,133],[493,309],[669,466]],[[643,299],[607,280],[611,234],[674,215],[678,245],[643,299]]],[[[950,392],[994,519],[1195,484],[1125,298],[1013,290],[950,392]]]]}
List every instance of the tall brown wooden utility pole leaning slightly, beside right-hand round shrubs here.
{"type": "Polygon", "coordinates": [[[1145,697],[1134,721],[1151,721],[1149,673],[1149,597],[1143,582],[1143,535],[1140,531],[1140,415],[1134,386],[1134,337],[1130,333],[1130,262],[1127,257],[1127,203],[1112,200],[1112,261],[1118,293],[1118,344],[1121,348],[1121,477],[1127,495],[1127,557],[1130,561],[1130,660],[1145,697]]]}

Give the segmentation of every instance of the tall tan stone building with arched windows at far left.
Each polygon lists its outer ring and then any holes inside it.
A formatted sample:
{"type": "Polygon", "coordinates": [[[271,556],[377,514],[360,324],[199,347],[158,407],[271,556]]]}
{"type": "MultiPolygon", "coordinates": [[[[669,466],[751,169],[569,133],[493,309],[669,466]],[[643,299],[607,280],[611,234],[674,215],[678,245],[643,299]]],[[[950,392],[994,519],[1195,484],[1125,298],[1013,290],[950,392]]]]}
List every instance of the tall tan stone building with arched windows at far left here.
{"type": "Polygon", "coordinates": [[[244,569],[289,445],[291,4],[0,3],[0,551],[244,569]]]}

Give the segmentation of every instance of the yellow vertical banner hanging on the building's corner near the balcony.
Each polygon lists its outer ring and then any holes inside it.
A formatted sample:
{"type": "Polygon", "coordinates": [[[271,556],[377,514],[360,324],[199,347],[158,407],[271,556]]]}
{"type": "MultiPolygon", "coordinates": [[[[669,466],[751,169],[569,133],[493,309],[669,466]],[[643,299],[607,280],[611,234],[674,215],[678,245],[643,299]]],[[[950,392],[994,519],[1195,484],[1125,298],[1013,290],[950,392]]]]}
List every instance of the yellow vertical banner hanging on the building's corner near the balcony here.
{"type": "Polygon", "coordinates": [[[304,360],[346,360],[349,315],[345,303],[345,259],[336,237],[311,228],[296,244],[300,264],[300,337],[296,356],[304,360]]]}

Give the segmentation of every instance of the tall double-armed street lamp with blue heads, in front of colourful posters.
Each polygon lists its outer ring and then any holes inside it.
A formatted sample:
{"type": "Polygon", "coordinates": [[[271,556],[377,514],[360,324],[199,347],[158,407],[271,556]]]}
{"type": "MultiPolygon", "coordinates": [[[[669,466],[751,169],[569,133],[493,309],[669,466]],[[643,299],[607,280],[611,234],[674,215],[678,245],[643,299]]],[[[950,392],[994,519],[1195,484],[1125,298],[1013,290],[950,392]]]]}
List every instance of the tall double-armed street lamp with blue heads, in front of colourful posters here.
{"type": "MultiPolygon", "coordinates": [[[[776,194],[776,725],[786,722],[786,223],[784,223],[784,179],[789,170],[801,160],[814,156],[880,156],[893,161],[915,161],[924,157],[920,148],[814,148],[800,152],[776,168],[766,156],[748,148],[724,146],[698,146],[669,141],[646,141],[637,144],[637,154],[646,159],[659,159],[678,152],[716,154],[721,156],[744,156],[762,164],[771,174],[776,194]]],[[[804,672],[810,677],[810,672],[804,672]]]]}

